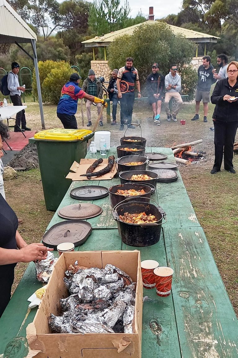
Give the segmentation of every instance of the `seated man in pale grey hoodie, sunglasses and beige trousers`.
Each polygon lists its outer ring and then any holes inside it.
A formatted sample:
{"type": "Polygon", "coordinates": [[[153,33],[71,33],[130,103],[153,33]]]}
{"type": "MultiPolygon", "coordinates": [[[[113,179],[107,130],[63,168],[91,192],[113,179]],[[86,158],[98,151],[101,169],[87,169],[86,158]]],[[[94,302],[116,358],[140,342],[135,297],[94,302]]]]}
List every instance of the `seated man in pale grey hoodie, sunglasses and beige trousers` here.
{"type": "Polygon", "coordinates": [[[167,121],[169,122],[173,118],[174,122],[177,122],[177,114],[183,104],[182,97],[179,93],[181,91],[181,77],[177,74],[177,66],[170,66],[169,73],[165,76],[164,79],[165,87],[165,98],[164,105],[167,114],[167,121]],[[172,110],[169,109],[169,101],[171,98],[174,99],[175,105],[172,107],[172,110]]]}

